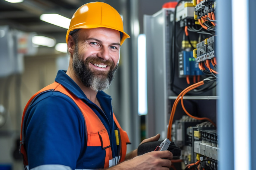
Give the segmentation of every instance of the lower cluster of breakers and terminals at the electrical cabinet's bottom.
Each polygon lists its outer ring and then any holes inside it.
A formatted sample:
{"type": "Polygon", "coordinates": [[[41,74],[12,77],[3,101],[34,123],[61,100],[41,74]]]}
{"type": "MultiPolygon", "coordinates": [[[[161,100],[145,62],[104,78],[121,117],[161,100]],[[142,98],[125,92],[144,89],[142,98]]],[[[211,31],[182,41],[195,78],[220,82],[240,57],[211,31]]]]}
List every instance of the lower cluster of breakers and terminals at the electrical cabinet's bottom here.
{"type": "MultiPolygon", "coordinates": [[[[176,120],[172,128],[172,139],[181,148],[181,159],[185,164],[195,163],[200,157],[211,160],[207,167],[217,169],[218,134],[210,122],[201,122],[188,116],[176,120]]],[[[202,166],[202,163],[201,163],[202,166]]]]}

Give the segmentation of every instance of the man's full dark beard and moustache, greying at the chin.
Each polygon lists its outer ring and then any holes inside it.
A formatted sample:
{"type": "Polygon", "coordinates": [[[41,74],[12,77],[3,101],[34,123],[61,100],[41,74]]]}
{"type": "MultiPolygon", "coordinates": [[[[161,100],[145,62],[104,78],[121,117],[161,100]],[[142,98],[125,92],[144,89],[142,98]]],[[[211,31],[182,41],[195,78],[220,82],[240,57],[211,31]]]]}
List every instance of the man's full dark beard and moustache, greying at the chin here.
{"type": "Polygon", "coordinates": [[[83,57],[78,53],[78,46],[76,45],[73,52],[73,70],[83,85],[95,91],[108,89],[113,80],[118,64],[116,67],[114,67],[114,62],[102,60],[99,57],[92,56],[87,57],[85,61],[82,59],[83,57]],[[107,73],[97,70],[92,71],[89,68],[89,63],[104,64],[109,66],[110,70],[107,73]]]}

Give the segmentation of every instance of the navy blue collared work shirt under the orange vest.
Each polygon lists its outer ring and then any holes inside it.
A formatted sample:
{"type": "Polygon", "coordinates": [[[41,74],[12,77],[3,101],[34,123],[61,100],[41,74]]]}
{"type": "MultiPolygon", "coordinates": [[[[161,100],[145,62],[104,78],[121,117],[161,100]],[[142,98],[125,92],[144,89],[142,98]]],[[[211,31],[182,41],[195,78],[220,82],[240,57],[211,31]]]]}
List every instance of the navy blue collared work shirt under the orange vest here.
{"type": "MultiPolygon", "coordinates": [[[[97,93],[102,111],[86,97],[66,71],[59,70],[55,81],[83,100],[95,112],[110,136],[113,158],[117,157],[114,133],[117,126],[113,119],[111,97],[103,91],[97,93]]],[[[58,91],[41,93],[27,110],[24,128],[29,169],[40,165],[64,165],[67,169],[86,167],[83,165],[87,143],[84,117],[68,96],[58,91]]],[[[104,164],[99,166],[104,168],[104,164]]]]}

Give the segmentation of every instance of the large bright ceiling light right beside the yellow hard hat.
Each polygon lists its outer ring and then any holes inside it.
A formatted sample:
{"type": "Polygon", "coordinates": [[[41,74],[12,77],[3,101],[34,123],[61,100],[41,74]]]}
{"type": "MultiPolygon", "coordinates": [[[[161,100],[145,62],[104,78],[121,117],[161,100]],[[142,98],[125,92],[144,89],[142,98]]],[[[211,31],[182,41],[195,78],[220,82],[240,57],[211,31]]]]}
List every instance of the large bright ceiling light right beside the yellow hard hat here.
{"type": "Polygon", "coordinates": [[[40,20],[66,29],[69,28],[71,21],[71,19],[63,17],[59,14],[42,14],[40,16],[40,20]]]}

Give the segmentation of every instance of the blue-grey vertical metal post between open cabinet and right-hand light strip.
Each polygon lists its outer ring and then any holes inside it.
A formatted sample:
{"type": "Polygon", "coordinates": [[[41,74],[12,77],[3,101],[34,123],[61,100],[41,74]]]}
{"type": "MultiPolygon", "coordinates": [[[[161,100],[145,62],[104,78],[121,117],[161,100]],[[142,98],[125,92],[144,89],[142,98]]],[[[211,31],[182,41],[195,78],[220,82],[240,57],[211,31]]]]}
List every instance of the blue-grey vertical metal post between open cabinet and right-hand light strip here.
{"type": "MultiPolygon", "coordinates": [[[[217,131],[219,134],[219,162],[220,170],[234,169],[234,143],[233,143],[233,67],[232,64],[232,20],[225,19],[223,13],[232,16],[231,0],[218,1],[217,17],[217,56],[219,87],[217,93],[217,131]],[[229,142],[227,142],[229,141],[229,142]],[[228,162],[228,163],[227,163],[228,162]]],[[[241,139],[242,140],[242,139],[241,139]]]]}

